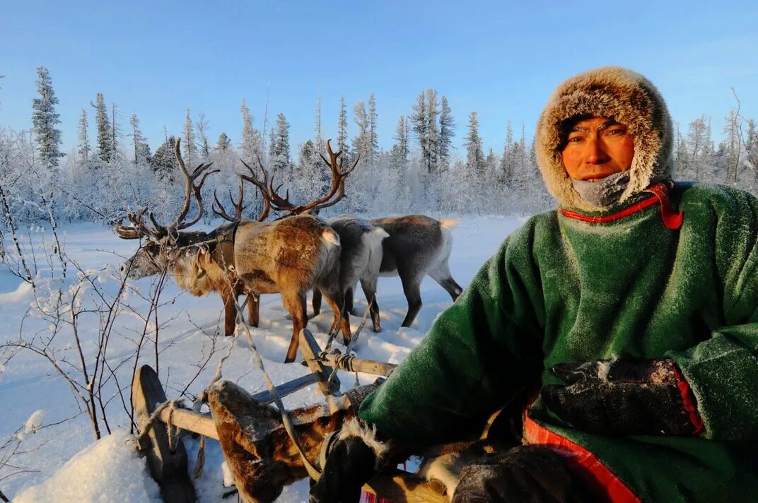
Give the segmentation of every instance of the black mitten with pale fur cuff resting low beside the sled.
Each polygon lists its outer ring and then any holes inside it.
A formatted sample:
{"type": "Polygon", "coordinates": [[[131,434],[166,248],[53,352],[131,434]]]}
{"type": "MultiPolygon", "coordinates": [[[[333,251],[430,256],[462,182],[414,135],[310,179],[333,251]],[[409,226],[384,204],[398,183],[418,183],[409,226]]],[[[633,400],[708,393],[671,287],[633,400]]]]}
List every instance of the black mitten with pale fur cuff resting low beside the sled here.
{"type": "Polygon", "coordinates": [[[356,503],[363,484],[384,466],[389,446],[376,439],[376,432],[347,423],[328,448],[321,478],[311,488],[310,503],[356,503]]]}

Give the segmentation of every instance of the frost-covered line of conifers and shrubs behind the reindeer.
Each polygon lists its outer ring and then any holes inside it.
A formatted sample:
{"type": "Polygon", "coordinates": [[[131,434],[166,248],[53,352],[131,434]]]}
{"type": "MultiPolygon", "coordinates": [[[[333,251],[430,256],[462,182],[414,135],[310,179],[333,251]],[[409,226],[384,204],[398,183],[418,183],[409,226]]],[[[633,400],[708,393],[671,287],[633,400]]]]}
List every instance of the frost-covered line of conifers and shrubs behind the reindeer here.
{"type": "MultiPolygon", "coordinates": [[[[293,201],[318,197],[330,182],[320,157],[325,142],[320,99],[313,137],[296,148],[284,114],[277,114],[268,132],[258,130],[242,100],[239,144],[234,145],[224,132],[215,142],[209,139],[208,118],[200,113],[193,119],[187,108],[182,130],[166,131],[164,141],[152,150],[136,114],[130,115],[129,126],[122,130],[117,105],[107,105],[104,95],[98,93],[89,107],[82,108],[77,147],[64,155],[57,127],[60,117],[55,111],[58,98],[44,67],[37,69],[36,86],[39,97],[32,103],[31,130],[0,129],[0,197],[19,222],[47,219],[52,211],[65,220],[112,223],[127,209],[144,206],[158,217],[171,218],[183,190],[174,177],[177,138],[182,139],[187,164],[212,161],[221,170],[205,184],[205,201],[212,201],[214,191],[219,195],[236,192],[236,173],[245,169],[240,160],[256,169],[258,163],[264,165],[276,185],[289,190],[293,201]],[[93,139],[89,136],[90,117],[95,126],[93,139]]],[[[436,89],[421,91],[409,114],[397,119],[389,151],[379,148],[374,93],[352,107],[356,136],[349,138],[344,96],[336,115],[337,145],[333,146],[345,152],[346,166],[360,161],[347,179],[346,198],[337,208],[330,208],[332,212],[532,214],[553,206],[524,127],[514,131],[511,121],[506,121],[503,146],[495,152],[484,147],[477,112],[471,111],[462,152],[456,152],[456,119],[446,96],[436,89]]],[[[676,178],[728,183],[756,192],[755,120],[743,117],[739,106],[729,111],[720,140],[714,139],[710,122],[703,115],[686,130],[676,127],[676,178]]],[[[246,199],[249,214],[257,214],[257,194],[248,190],[246,199]]]]}

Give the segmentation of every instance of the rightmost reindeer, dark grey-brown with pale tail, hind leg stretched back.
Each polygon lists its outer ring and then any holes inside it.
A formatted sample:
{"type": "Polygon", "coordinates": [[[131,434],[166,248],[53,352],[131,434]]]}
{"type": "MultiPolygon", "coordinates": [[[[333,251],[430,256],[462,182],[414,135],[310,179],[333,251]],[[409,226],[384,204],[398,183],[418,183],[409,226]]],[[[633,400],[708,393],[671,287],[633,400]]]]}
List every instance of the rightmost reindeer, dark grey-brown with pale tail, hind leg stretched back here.
{"type": "Polygon", "coordinates": [[[453,301],[463,292],[450,274],[448,260],[453,236],[450,228],[456,220],[434,220],[424,215],[385,217],[371,220],[390,235],[382,242],[381,276],[400,276],[402,291],[408,300],[408,312],[402,326],[411,326],[421,310],[421,280],[431,276],[450,294],[453,301]]]}

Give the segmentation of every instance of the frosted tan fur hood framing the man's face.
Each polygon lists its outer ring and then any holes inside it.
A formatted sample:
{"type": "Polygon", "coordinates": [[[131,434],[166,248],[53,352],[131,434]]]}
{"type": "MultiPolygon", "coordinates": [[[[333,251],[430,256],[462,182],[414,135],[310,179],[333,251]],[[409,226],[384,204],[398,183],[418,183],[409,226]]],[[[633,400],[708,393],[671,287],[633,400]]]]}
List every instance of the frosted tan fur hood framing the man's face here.
{"type": "Polygon", "coordinates": [[[560,148],[563,123],[578,115],[613,117],[628,127],[634,139],[630,182],[620,202],[668,180],[673,170],[672,122],[658,89],[639,73],[622,67],[602,67],[566,80],[550,97],[537,123],[534,149],[548,191],[566,208],[600,211],[575,191],[563,167],[560,148]]]}

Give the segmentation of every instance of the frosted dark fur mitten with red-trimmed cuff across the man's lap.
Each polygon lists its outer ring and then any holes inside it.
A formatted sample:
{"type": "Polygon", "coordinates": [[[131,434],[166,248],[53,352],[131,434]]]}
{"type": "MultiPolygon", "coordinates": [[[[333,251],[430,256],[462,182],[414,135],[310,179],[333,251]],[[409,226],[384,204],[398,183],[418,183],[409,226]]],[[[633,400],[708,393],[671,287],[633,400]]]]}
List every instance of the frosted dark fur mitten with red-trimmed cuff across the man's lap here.
{"type": "Polygon", "coordinates": [[[600,360],[553,367],[567,386],[545,386],[553,414],[605,435],[693,435],[702,430],[694,396],[671,359],[600,360]]]}

